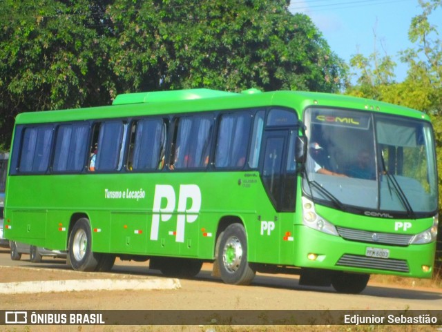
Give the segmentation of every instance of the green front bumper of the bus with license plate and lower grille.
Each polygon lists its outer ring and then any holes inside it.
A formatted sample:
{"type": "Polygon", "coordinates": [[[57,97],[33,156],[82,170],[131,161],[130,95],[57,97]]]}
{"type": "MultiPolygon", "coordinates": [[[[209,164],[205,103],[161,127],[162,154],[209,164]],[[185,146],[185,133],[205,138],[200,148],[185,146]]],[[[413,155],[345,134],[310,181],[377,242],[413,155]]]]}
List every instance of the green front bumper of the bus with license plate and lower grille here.
{"type": "Polygon", "coordinates": [[[378,273],[403,277],[430,278],[436,244],[392,246],[344,240],[296,226],[295,262],[299,267],[325,268],[356,273],[378,273]]]}

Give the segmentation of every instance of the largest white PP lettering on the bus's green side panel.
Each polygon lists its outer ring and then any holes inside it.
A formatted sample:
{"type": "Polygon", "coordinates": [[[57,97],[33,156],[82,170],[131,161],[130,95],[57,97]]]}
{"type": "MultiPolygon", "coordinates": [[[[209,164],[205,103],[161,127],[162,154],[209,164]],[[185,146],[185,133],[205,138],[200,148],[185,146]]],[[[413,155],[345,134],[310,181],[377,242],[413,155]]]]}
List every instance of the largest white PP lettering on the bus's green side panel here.
{"type": "MultiPolygon", "coordinates": [[[[160,231],[160,219],[167,222],[171,219],[175,210],[176,195],[173,186],[169,184],[157,184],[153,197],[153,215],[151,226],[151,240],[158,240],[160,231]],[[166,202],[163,201],[165,199],[166,202]],[[164,202],[164,205],[162,204],[164,202]],[[164,207],[162,207],[164,206],[164,207]]],[[[177,229],[175,242],[184,242],[184,228],[186,222],[192,223],[198,219],[201,208],[201,191],[196,184],[180,185],[177,208],[177,229]],[[190,204],[188,202],[190,201],[190,204]],[[188,208],[189,206],[189,208],[188,208]]]]}

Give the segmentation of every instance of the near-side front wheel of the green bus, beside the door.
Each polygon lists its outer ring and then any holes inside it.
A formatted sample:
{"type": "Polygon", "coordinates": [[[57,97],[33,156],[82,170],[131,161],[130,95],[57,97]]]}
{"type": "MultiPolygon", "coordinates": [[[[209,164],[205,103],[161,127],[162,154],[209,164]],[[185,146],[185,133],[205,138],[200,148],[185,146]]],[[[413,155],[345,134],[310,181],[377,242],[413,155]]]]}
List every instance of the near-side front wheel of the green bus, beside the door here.
{"type": "Polygon", "coordinates": [[[221,235],[218,250],[221,279],[226,284],[247,285],[255,277],[255,271],[247,262],[247,239],[244,226],[231,224],[221,235]]]}

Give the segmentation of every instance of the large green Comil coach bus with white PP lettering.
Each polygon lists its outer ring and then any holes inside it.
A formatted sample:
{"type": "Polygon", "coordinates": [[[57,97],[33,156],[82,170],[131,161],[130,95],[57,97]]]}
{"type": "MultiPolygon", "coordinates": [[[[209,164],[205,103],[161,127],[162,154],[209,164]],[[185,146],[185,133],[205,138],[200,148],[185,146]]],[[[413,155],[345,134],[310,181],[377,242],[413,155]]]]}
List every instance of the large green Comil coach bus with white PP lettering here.
{"type": "Polygon", "coordinates": [[[434,137],[424,113],[316,92],[119,95],[17,116],[10,240],[229,284],[256,272],[359,293],[373,273],[432,276],[434,137]]]}

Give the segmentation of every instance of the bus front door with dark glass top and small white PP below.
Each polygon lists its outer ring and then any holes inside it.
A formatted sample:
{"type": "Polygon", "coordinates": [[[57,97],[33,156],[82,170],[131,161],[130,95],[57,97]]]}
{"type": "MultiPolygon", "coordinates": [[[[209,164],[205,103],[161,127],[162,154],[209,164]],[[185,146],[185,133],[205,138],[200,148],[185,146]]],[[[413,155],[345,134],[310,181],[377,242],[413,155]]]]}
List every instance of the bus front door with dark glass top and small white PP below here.
{"type": "Polygon", "coordinates": [[[289,157],[295,130],[267,130],[260,159],[260,174],[265,195],[258,208],[256,260],[269,264],[292,262],[294,229],[291,213],[295,207],[296,172],[289,157]],[[285,213],[287,212],[287,213],[285,213]],[[291,243],[289,243],[291,242],[291,243]]]}

